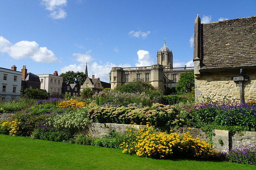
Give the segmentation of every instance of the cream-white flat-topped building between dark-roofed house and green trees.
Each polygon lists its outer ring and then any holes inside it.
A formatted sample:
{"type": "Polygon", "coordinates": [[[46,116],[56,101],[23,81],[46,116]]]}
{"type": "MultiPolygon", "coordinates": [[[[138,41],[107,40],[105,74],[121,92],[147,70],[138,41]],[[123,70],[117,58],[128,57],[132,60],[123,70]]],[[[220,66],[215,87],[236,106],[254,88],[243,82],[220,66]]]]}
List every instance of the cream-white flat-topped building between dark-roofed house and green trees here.
{"type": "Polygon", "coordinates": [[[41,89],[46,90],[49,93],[58,92],[61,94],[62,77],[58,76],[58,72],[53,74],[38,74],[41,81],[41,89]]]}

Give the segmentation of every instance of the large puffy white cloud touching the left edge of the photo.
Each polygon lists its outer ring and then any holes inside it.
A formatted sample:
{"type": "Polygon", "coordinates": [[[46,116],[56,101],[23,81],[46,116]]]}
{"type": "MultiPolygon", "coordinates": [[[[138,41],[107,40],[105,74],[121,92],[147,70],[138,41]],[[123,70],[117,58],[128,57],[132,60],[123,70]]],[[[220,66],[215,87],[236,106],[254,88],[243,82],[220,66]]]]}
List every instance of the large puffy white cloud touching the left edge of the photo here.
{"type": "Polygon", "coordinates": [[[19,41],[12,44],[0,36],[0,53],[7,53],[13,59],[19,60],[30,57],[38,63],[60,63],[60,60],[51,50],[46,47],[39,47],[35,41],[19,41]]]}

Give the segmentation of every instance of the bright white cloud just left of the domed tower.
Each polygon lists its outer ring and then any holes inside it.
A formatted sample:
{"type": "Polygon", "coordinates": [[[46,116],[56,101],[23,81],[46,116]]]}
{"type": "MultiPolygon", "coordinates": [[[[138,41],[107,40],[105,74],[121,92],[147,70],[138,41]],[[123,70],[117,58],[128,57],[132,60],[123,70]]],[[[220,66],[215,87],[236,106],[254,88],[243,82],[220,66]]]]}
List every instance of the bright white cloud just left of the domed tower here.
{"type": "Polygon", "coordinates": [[[138,62],[136,63],[136,67],[140,67],[140,66],[151,66],[154,64],[154,59],[152,59],[150,57],[150,54],[148,51],[144,51],[144,50],[139,50],[137,52],[138,54],[138,62]]]}

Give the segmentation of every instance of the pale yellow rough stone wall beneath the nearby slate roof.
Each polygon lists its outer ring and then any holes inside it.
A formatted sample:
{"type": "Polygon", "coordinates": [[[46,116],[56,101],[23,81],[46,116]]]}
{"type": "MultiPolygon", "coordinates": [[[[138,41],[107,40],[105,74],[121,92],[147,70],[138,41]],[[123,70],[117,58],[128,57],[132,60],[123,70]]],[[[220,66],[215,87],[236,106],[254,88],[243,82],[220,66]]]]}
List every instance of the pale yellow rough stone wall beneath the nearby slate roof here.
{"type": "MultiPolygon", "coordinates": [[[[249,76],[248,81],[244,81],[244,101],[254,101],[256,96],[256,70],[243,70],[249,76]]],[[[232,81],[232,76],[238,75],[239,70],[209,71],[201,72],[200,78],[195,78],[195,97],[200,102],[206,95],[210,95],[212,100],[223,100],[223,96],[229,97],[235,102],[240,101],[239,86],[232,81]]]]}

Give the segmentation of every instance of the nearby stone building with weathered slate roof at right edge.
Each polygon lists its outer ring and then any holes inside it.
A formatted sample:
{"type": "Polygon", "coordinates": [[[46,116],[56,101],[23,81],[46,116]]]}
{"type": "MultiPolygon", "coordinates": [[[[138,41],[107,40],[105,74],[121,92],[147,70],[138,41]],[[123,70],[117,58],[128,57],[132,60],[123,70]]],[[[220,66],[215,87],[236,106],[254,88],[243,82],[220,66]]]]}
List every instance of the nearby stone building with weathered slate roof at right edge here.
{"type": "Polygon", "coordinates": [[[195,97],[230,97],[236,102],[256,96],[256,16],[201,23],[194,29],[195,97]]]}

